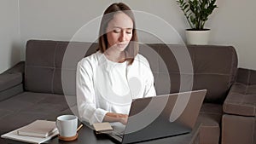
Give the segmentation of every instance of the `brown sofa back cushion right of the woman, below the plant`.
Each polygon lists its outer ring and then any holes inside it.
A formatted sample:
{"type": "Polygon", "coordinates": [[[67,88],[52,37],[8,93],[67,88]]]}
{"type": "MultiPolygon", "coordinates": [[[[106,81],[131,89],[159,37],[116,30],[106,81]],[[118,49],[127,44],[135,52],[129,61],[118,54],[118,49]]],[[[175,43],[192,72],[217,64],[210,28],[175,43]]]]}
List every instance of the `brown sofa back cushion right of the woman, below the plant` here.
{"type": "Polygon", "coordinates": [[[148,44],[148,46],[158,54],[144,55],[154,73],[158,94],[169,93],[170,91],[166,91],[168,86],[171,93],[187,91],[192,87],[192,89],[207,89],[206,102],[224,102],[236,78],[237,55],[234,47],[189,45],[184,49],[184,46],[174,44],[148,44]],[[186,55],[186,51],[189,55],[186,55]],[[177,62],[177,56],[180,60],[185,60],[185,56],[189,56],[190,63],[193,65],[192,72],[189,71],[189,65],[185,62],[177,62]],[[183,66],[179,66],[180,63],[183,63],[183,66]],[[164,71],[165,69],[167,71],[164,71]],[[183,85],[181,85],[182,80],[183,85]]]}

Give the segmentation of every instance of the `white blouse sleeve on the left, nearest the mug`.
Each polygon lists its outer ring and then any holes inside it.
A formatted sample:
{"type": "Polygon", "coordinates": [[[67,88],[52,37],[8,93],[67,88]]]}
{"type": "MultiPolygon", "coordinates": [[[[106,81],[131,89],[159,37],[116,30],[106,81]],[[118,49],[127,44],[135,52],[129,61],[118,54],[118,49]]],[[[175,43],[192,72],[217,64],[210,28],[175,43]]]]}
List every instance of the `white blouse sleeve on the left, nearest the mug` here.
{"type": "Polygon", "coordinates": [[[90,124],[101,123],[107,111],[96,108],[95,89],[93,87],[93,69],[88,60],[81,60],[78,63],[76,91],[79,118],[90,124]]]}

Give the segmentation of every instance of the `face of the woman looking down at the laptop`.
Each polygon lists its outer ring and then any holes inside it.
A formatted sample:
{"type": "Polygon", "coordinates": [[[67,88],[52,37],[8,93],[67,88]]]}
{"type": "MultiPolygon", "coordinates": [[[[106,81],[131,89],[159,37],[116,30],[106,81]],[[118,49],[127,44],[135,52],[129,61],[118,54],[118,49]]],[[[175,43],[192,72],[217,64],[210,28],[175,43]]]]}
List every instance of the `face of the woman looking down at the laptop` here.
{"type": "Polygon", "coordinates": [[[131,41],[132,29],[133,22],[127,14],[114,14],[107,27],[108,49],[124,51],[131,41]]]}

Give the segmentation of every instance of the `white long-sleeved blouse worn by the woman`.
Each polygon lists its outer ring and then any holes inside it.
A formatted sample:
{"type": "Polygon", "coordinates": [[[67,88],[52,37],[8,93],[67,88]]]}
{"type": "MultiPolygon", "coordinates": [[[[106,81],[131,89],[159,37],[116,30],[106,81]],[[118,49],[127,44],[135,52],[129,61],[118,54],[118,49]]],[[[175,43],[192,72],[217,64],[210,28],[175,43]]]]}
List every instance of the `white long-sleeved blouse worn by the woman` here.
{"type": "Polygon", "coordinates": [[[148,60],[138,54],[127,64],[108,60],[101,52],[79,61],[76,89],[83,121],[100,123],[107,112],[128,114],[132,99],[156,95],[148,60]]]}

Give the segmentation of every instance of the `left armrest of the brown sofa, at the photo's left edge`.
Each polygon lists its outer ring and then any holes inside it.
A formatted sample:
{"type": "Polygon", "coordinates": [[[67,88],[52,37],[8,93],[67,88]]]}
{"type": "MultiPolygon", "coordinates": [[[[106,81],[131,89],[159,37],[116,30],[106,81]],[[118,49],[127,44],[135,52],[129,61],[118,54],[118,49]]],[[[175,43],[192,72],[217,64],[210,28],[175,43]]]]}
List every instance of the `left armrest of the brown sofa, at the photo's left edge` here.
{"type": "Polygon", "coordinates": [[[0,101],[23,91],[24,62],[0,74],[0,101]]]}

